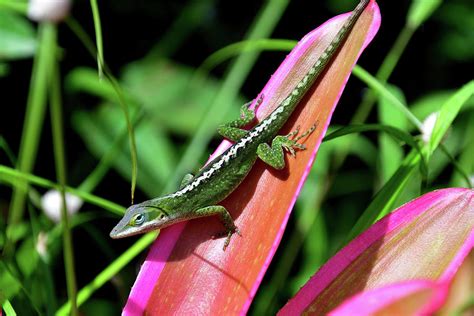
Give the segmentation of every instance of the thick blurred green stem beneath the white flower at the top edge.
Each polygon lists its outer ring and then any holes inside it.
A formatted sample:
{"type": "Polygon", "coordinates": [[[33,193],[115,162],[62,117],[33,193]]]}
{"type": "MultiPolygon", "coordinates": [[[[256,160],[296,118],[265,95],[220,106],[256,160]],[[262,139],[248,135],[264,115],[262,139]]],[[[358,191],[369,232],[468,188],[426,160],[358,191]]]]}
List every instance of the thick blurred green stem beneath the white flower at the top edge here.
{"type": "MultiPolygon", "coordinates": [[[[39,48],[33,61],[30,89],[26,105],[25,121],[18,154],[17,169],[21,172],[30,173],[36,161],[41,128],[44,121],[46,108],[47,78],[53,62],[56,30],[53,25],[42,23],[38,30],[39,48]]],[[[8,225],[19,223],[24,213],[27,185],[22,183],[13,190],[10,212],[8,214],[8,225]]],[[[13,244],[7,244],[4,248],[6,255],[13,250],[13,244]]]]}

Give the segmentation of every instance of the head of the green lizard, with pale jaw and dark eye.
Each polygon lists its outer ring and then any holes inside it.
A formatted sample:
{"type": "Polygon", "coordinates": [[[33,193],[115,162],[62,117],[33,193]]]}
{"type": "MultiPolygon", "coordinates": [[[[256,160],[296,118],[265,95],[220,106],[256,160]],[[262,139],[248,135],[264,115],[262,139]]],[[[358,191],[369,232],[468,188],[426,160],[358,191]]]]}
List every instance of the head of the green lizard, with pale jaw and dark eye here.
{"type": "Polygon", "coordinates": [[[160,204],[160,199],[154,199],[130,206],[110,237],[123,238],[168,226],[171,218],[160,204]]]}

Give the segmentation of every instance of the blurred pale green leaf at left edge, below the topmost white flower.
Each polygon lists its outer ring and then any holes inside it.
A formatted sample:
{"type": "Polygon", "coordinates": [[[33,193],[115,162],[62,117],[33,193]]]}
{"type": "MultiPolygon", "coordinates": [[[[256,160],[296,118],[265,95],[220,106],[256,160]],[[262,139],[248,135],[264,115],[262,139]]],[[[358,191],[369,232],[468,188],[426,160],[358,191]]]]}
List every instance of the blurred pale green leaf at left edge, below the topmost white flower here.
{"type": "Polygon", "coordinates": [[[36,46],[31,23],[12,11],[0,10],[0,60],[31,57],[36,46]]]}

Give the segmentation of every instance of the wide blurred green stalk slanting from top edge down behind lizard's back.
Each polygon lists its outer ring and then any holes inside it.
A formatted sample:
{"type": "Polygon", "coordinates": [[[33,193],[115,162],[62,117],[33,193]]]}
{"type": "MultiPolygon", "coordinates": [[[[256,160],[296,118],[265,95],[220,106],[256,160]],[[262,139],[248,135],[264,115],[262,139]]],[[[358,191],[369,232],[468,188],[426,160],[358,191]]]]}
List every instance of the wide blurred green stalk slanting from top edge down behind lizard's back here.
{"type": "MultiPolygon", "coordinates": [[[[288,0],[268,1],[256,18],[254,26],[248,33],[247,39],[254,40],[269,37],[288,3],[288,0]]],[[[217,124],[229,110],[230,105],[233,103],[232,100],[236,98],[238,91],[242,87],[245,78],[247,78],[259,54],[259,52],[242,54],[237,57],[236,61],[232,64],[222,84],[221,90],[214,99],[214,102],[209,106],[208,115],[206,115],[204,121],[199,124],[198,130],[176,166],[172,181],[168,182],[165,191],[170,191],[176,187],[180,178],[189,172],[189,170],[193,170],[196,167],[196,157],[203,156],[206,145],[214,135],[217,124]]]]}

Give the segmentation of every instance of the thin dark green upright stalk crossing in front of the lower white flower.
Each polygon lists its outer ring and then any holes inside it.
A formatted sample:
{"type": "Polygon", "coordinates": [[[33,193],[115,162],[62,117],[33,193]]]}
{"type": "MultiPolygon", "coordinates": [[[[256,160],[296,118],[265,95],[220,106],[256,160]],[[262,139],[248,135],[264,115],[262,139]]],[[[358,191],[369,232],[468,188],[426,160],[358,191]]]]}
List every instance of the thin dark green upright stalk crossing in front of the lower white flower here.
{"type": "Polygon", "coordinates": [[[64,263],[66,269],[66,283],[69,301],[71,302],[70,314],[77,315],[77,287],[74,272],[74,248],[72,245],[71,227],[66,205],[66,158],[64,150],[63,120],[61,106],[59,69],[56,64],[50,81],[51,127],[53,133],[53,150],[56,166],[56,177],[59,182],[62,197],[61,223],[63,225],[64,263]]]}

